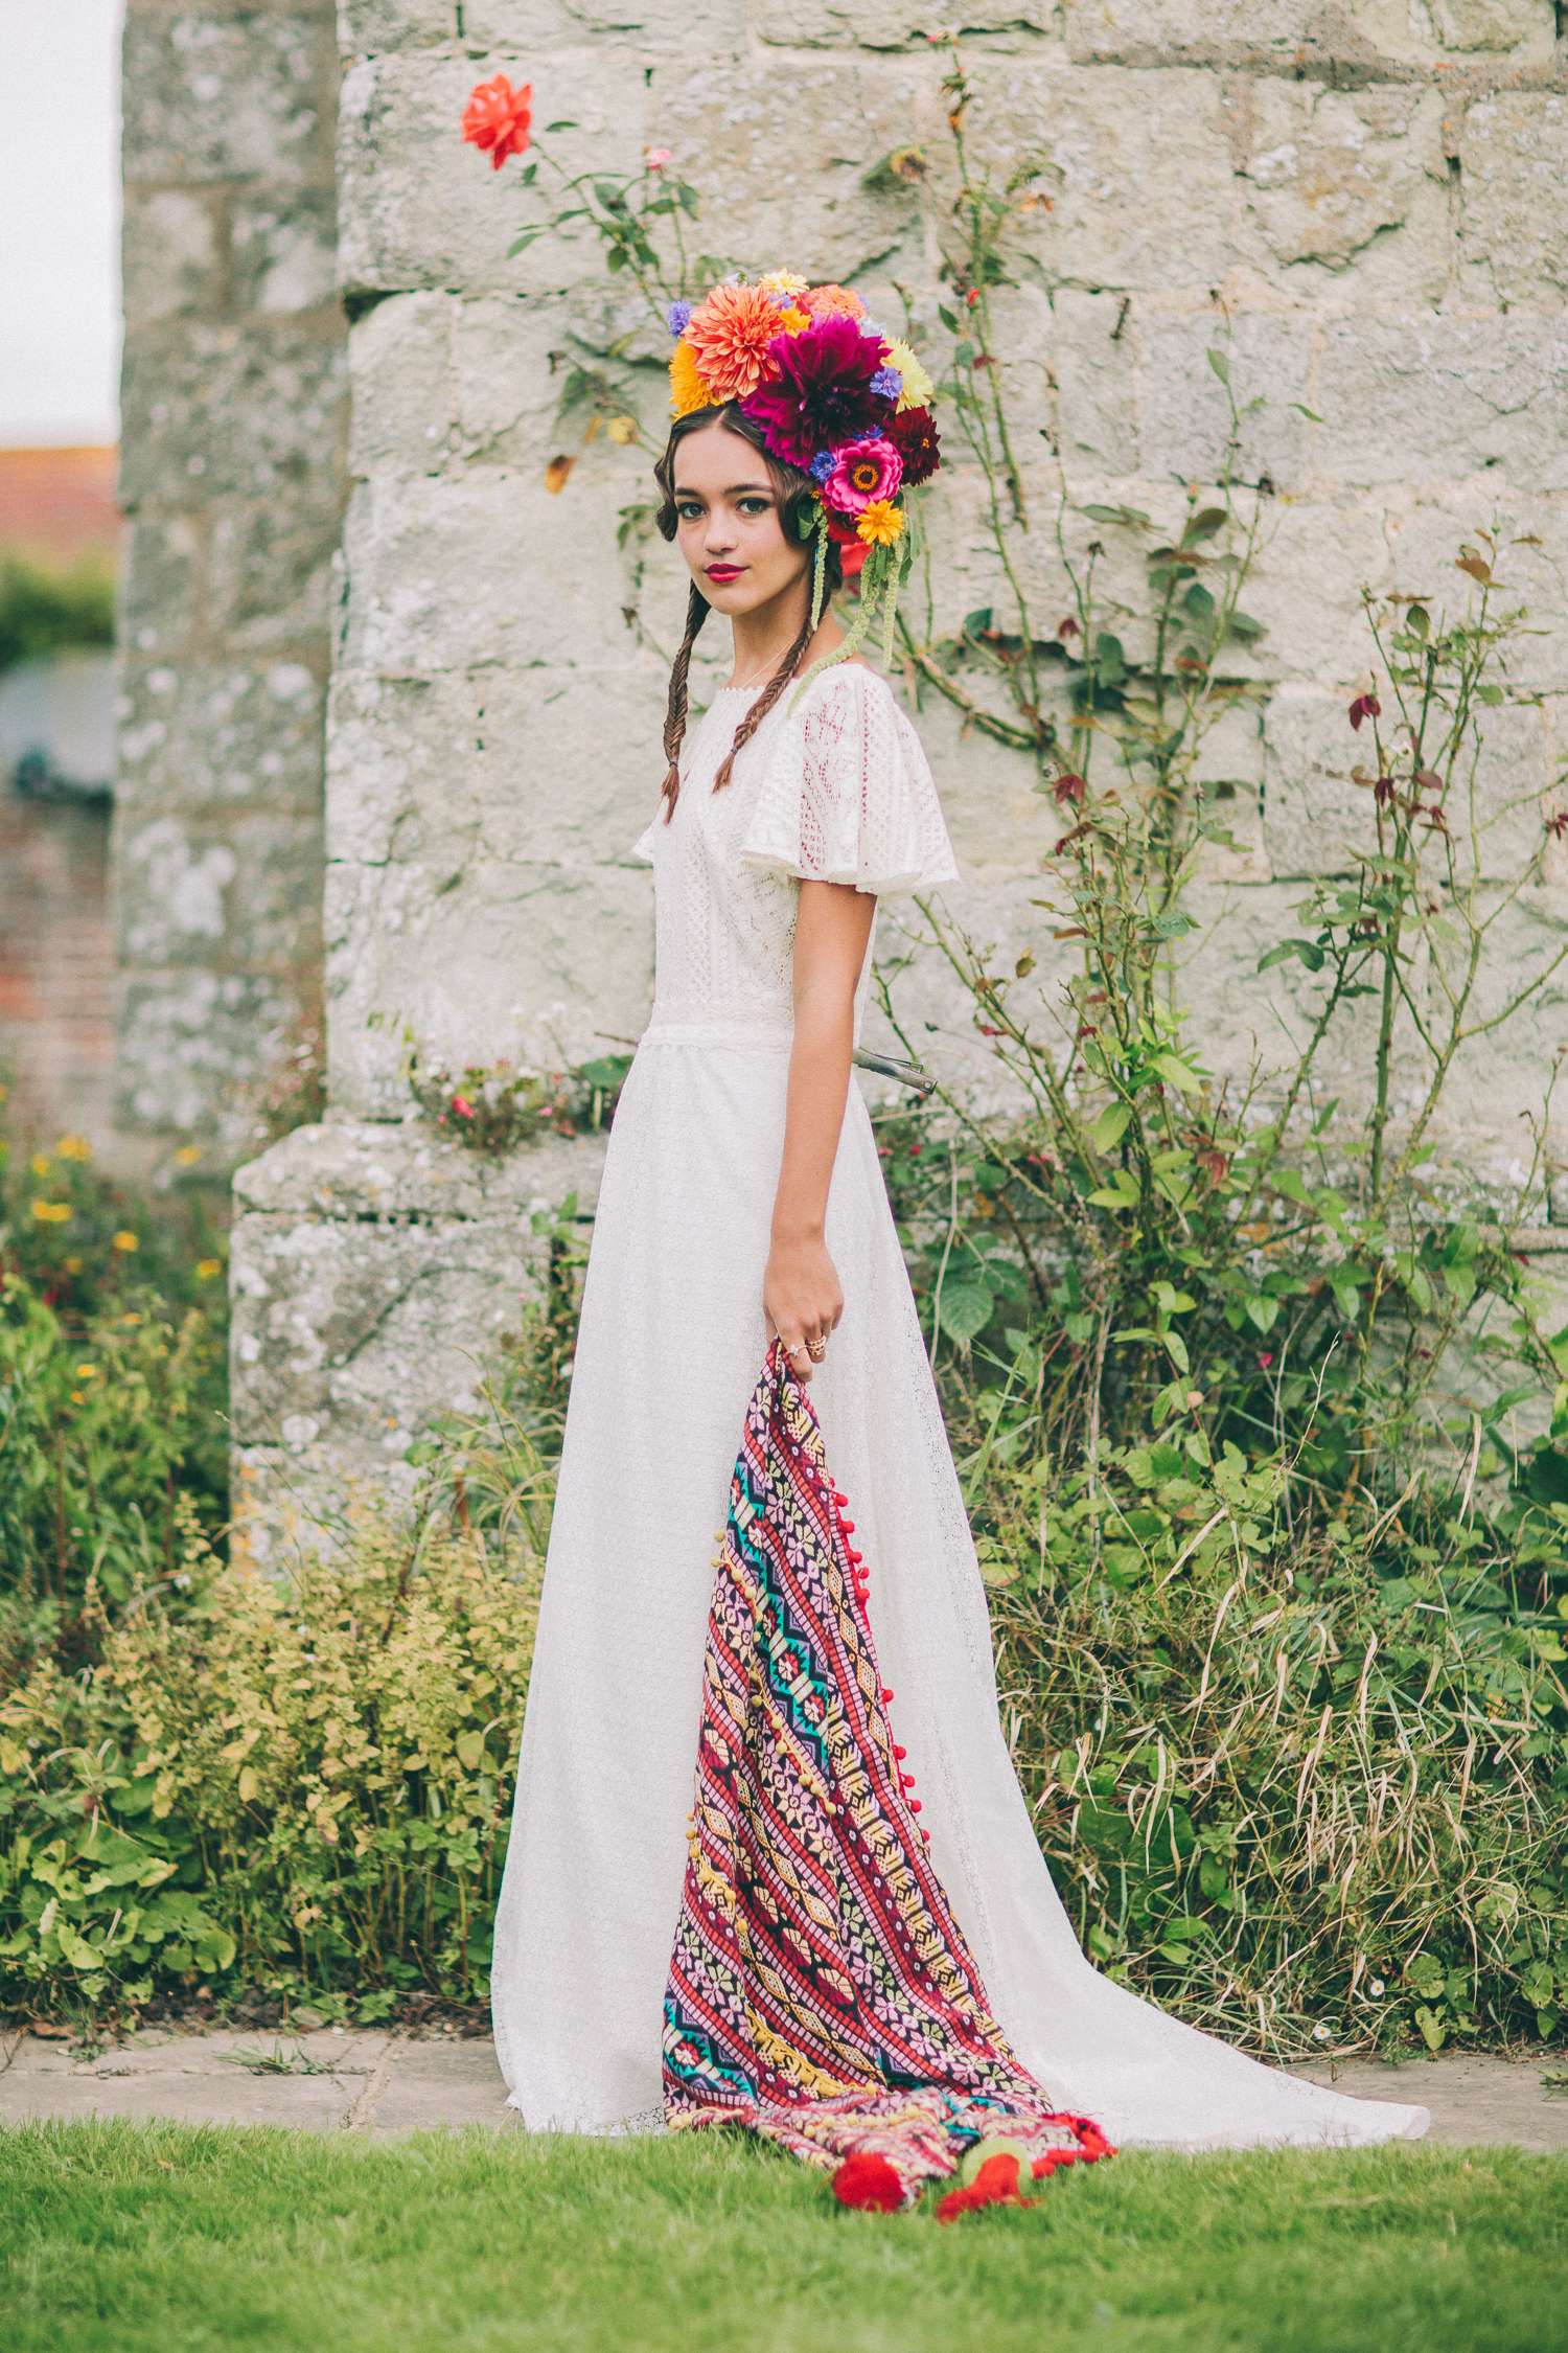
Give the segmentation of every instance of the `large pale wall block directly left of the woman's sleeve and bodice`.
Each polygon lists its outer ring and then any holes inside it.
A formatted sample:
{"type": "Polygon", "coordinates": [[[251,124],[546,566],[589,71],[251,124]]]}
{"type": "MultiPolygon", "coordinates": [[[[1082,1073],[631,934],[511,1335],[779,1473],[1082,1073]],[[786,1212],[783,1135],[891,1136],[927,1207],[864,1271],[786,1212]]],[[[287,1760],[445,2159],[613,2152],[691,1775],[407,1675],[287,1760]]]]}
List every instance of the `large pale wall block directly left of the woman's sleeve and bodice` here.
{"type": "Polygon", "coordinates": [[[440,678],[339,671],[331,854],[362,866],[491,856],[646,873],[630,845],[663,784],[665,692],[654,664],[440,678]]]}

